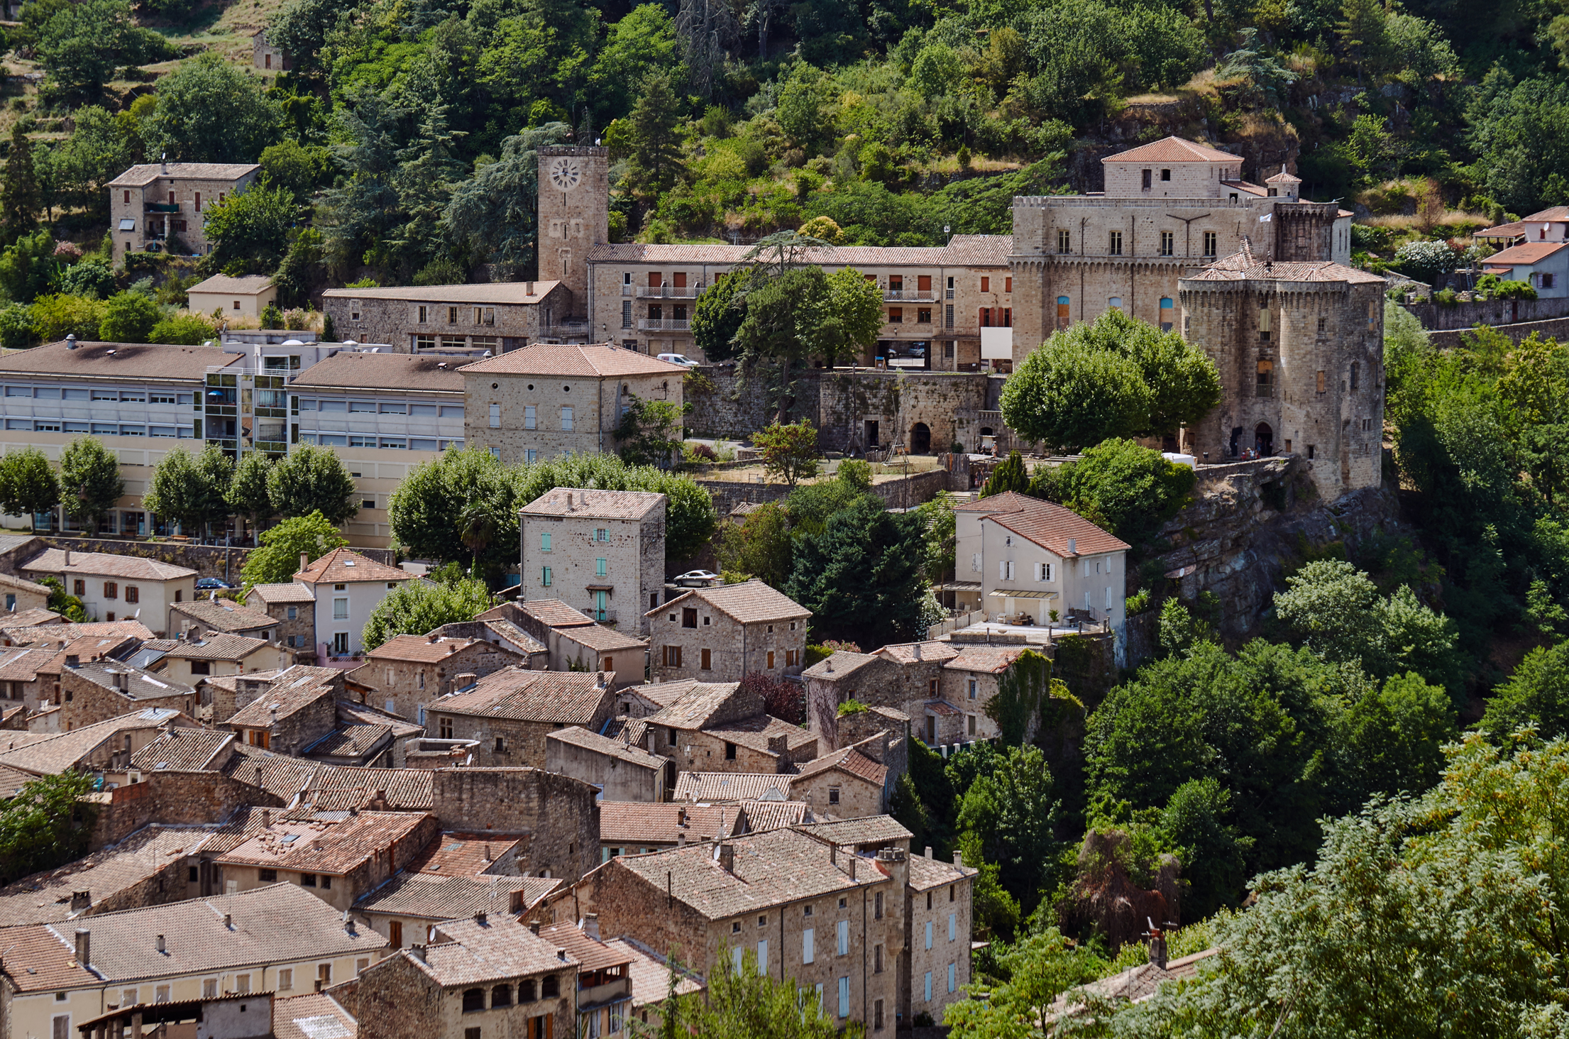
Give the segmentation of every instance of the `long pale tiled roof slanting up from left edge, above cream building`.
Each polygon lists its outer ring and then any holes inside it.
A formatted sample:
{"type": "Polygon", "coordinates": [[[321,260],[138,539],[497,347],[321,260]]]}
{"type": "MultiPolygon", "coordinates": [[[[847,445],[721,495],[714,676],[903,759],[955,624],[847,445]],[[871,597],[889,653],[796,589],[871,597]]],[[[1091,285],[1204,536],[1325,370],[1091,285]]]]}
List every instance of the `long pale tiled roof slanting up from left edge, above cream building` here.
{"type": "Polygon", "coordinates": [[[144,826],[67,866],[22,877],[0,887],[0,928],[69,920],[80,912],[71,907],[72,891],[91,891],[94,904],[102,902],[169,863],[184,866],[185,855],[199,852],[209,838],[212,829],[144,826]]]}

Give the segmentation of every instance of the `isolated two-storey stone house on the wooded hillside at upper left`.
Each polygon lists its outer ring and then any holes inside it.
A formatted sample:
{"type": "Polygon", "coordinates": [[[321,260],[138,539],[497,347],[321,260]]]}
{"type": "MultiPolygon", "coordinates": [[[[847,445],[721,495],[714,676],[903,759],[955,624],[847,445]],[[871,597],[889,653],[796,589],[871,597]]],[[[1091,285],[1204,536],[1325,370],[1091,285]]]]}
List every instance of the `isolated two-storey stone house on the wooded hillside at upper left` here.
{"type": "Polygon", "coordinates": [[[196,256],[210,253],[202,207],[243,191],[259,170],[257,163],[162,162],[119,174],[107,185],[115,262],[143,250],[168,253],[171,239],[196,256]]]}

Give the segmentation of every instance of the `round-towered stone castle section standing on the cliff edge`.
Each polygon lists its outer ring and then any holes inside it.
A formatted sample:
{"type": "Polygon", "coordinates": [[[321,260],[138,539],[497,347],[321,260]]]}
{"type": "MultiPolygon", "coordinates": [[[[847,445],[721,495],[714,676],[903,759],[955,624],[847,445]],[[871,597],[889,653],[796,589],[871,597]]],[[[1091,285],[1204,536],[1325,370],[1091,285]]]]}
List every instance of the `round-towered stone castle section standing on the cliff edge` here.
{"type": "Polygon", "coordinates": [[[1378,487],[1384,465],[1384,287],[1362,270],[1249,248],[1181,279],[1183,337],[1221,372],[1189,452],[1307,458],[1318,493],[1378,487]]]}

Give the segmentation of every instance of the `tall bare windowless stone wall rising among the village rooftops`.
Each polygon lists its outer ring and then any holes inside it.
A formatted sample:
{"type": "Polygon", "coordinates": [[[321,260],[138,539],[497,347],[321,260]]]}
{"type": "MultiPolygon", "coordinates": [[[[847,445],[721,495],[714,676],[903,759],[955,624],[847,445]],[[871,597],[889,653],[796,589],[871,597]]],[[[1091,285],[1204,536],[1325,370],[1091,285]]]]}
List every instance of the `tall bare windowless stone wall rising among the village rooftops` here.
{"type": "Polygon", "coordinates": [[[442,830],[530,833],[526,873],[577,880],[599,865],[599,805],[582,780],[540,769],[436,769],[442,830]]]}

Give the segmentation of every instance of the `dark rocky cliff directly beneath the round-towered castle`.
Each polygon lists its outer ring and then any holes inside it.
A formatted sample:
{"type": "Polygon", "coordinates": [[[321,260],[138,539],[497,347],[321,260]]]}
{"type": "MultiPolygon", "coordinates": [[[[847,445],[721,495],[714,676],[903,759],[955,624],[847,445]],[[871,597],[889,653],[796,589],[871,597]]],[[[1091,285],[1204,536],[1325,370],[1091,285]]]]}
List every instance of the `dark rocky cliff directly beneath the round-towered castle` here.
{"type": "Polygon", "coordinates": [[[1159,530],[1170,548],[1155,557],[1177,578],[1183,601],[1200,592],[1221,600],[1221,634],[1246,640],[1282,587],[1285,570],[1341,543],[1352,554],[1379,534],[1401,530],[1389,487],[1352,491],[1335,502],[1316,496],[1299,457],[1260,458],[1199,471],[1194,502],[1159,530]]]}

